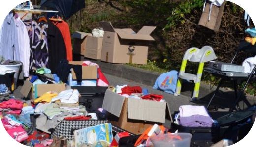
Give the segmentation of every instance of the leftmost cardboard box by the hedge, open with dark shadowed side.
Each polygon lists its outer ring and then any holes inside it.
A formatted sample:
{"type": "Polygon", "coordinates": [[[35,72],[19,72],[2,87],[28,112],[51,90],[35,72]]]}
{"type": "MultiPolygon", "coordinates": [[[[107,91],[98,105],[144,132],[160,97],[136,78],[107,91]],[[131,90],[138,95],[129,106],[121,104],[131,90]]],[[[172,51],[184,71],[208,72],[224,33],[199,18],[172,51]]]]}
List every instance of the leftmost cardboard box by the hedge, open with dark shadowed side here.
{"type": "Polygon", "coordinates": [[[72,34],[72,38],[74,38],[73,43],[73,54],[84,55],[86,50],[86,42],[87,36],[92,35],[85,32],[76,31],[72,34]]]}

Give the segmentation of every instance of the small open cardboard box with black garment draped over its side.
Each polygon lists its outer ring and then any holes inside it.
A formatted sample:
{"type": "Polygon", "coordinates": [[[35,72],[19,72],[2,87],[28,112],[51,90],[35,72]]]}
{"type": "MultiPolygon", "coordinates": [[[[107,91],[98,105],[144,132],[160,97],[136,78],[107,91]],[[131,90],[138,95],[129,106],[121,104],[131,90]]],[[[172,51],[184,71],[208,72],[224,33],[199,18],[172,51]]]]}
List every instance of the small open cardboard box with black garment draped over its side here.
{"type": "MultiPolygon", "coordinates": [[[[83,61],[70,61],[69,64],[73,65],[83,65],[83,61]]],[[[97,66],[82,66],[82,79],[97,79],[98,78],[98,69],[97,66]]],[[[75,72],[72,69],[72,78],[73,80],[76,80],[75,72]]]]}

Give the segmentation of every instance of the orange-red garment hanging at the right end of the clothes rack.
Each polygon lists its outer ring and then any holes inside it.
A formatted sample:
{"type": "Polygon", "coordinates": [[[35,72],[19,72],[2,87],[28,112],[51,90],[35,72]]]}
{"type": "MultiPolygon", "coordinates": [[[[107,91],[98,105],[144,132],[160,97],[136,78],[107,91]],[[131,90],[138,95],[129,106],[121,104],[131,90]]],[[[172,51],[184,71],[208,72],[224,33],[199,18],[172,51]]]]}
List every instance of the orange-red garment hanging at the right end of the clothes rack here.
{"type": "MultiPolygon", "coordinates": [[[[59,19],[61,18],[59,17],[59,19]]],[[[59,21],[57,22],[51,21],[51,22],[54,25],[56,25],[62,33],[62,37],[66,45],[66,59],[68,61],[73,61],[72,43],[71,43],[71,36],[70,36],[68,24],[64,20],[62,20],[61,22],[59,21]]]]}

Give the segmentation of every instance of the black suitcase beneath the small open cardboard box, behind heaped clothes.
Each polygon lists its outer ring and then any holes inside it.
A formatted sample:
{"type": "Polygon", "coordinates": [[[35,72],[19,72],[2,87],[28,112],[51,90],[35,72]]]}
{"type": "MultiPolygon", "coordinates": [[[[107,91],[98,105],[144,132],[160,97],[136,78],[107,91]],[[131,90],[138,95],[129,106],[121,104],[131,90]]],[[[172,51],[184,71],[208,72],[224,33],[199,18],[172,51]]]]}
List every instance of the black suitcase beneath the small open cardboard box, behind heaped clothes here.
{"type": "Polygon", "coordinates": [[[84,105],[89,113],[98,110],[102,107],[105,92],[108,87],[99,86],[71,86],[72,89],[77,89],[81,94],[79,105],[84,105]]]}

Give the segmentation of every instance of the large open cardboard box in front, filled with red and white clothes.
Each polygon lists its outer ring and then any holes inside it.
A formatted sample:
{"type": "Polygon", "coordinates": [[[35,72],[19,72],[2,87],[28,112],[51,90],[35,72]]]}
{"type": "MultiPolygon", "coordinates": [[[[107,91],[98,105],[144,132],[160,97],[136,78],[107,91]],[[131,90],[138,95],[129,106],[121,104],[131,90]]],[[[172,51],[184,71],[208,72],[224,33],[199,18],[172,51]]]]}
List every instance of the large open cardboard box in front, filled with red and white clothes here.
{"type": "Polygon", "coordinates": [[[133,134],[142,134],[148,127],[172,121],[168,103],[126,98],[107,89],[103,101],[106,118],[115,126],[133,134]]]}

